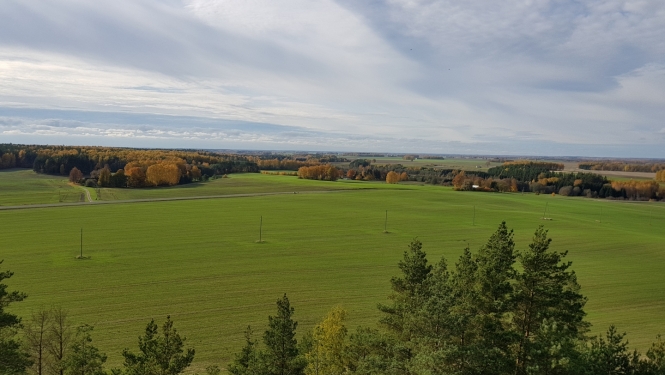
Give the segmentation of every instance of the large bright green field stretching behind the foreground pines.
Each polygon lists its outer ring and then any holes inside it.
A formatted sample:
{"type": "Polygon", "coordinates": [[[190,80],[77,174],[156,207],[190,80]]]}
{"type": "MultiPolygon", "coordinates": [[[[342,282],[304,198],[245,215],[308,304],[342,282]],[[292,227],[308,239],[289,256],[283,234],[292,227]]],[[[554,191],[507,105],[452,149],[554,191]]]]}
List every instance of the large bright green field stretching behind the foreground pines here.
{"type": "Polygon", "coordinates": [[[151,318],[161,324],[170,314],[197,350],[197,369],[225,366],[248,324],[260,337],[283,293],[300,332],[338,304],[352,329],[375,326],[376,304],[386,302],[414,237],[431,261],[445,255],[452,264],[506,220],[518,248],[543,224],[552,248],[570,251],[594,332],[616,323],[642,350],[665,333],[663,204],[260,174],[220,181],[229,191],[232,183],[238,191],[374,189],[0,211],[1,267],[15,272],[10,289],[29,295],[11,310],[27,317],[41,306],[64,307],[73,321],[95,326],[95,341],[116,366],[151,318]],[[540,219],[546,203],[551,221],[540,219]],[[265,242],[257,243],[261,216],[265,242]],[[90,260],[75,259],[80,228],[90,260]]]}

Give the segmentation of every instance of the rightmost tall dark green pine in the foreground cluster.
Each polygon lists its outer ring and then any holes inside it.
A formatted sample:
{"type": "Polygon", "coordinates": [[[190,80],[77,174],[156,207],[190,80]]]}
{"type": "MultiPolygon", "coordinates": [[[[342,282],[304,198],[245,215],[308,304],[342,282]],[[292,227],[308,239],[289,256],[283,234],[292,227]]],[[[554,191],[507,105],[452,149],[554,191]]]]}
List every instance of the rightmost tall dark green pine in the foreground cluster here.
{"type": "Polygon", "coordinates": [[[551,242],[541,226],[529,248],[518,255],[523,271],[517,275],[513,295],[512,323],[519,335],[516,374],[565,370],[574,362],[572,342],[588,328],[586,298],[580,294],[571,262],[563,261],[567,252],[550,251],[551,242]]]}

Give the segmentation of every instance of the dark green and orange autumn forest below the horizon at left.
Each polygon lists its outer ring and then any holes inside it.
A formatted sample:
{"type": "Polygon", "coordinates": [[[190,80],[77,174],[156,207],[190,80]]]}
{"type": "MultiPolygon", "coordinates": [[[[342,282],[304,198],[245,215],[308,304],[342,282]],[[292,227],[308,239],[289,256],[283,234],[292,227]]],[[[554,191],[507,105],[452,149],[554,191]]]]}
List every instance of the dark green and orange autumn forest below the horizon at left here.
{"type": "Polygon", "coordinates": [[[0,145],[1,168],[32,168],[100,187],[172,186],[237,172],[259,172],[248,157],[208,151],[0,145]]]}

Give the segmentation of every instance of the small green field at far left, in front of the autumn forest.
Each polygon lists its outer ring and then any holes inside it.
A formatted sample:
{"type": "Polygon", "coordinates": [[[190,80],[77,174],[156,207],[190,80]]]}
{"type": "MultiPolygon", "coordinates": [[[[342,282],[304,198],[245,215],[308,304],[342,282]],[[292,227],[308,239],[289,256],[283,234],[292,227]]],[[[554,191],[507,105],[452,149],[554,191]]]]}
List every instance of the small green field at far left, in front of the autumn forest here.
{"type": "Polygon", "coordinates": [[[0,170],[0,206],[79,202],[83,189],[66,177],[37,174],[29,169],[0,170]]]}

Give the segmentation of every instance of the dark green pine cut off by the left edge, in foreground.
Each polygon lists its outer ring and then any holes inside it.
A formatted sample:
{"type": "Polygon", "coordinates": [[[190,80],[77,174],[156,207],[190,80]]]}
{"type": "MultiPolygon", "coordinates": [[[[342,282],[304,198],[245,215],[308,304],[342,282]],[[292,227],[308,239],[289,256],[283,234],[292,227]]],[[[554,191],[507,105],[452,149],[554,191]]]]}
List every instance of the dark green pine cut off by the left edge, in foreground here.
{"type": "MultiPolygon", "coordinates": [[[[2,262],[0,260],[0,265],[2,262]]],[[[29,355],[21,349],[20,342],[15,337],[21,319],[5,311],[10,304],[23,301],[27,297],[25,293],[7,291],[3,280],[12,275],[10,271],[0,271],[0,374],[7,375],[22,374],[31,365],[29,355]]]]}

